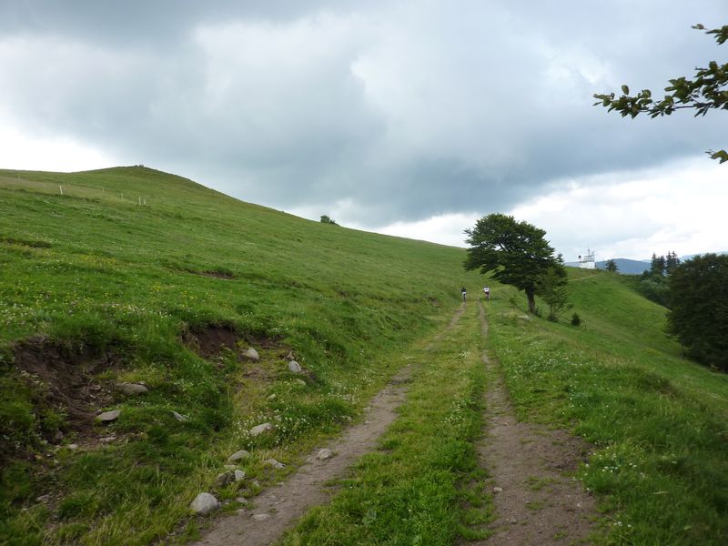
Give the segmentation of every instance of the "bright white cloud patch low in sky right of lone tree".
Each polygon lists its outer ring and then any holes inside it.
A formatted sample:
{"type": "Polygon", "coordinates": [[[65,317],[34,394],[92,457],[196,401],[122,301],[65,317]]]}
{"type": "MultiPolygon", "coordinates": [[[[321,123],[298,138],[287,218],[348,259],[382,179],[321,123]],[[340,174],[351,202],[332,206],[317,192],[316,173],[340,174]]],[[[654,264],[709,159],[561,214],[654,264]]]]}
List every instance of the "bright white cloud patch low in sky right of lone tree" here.
{"type": "Polygon", "coordinates": [[[728,172],[705,158],[659,169],[584,177],[514,207],[547,231],[567,261],[596,249],[599,259],[650,258],[728,248],[728,172]]]}

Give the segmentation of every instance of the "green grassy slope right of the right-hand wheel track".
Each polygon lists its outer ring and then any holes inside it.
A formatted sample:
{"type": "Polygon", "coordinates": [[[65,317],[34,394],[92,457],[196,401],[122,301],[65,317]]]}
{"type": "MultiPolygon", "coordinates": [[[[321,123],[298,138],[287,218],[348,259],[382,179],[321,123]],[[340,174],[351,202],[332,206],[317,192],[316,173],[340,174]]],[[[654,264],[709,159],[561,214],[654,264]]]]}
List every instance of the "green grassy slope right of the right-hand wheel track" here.
{"type": "Polygon", "coordinates": [[[626,279],[569,275],[579,328],[531,319],[510,290],[490,302],[490,348],[521,416],[591,442],[579,475],[605,513],[600,543],[726,543],[728,377],[682,359],[666,309],[626,279]]]}

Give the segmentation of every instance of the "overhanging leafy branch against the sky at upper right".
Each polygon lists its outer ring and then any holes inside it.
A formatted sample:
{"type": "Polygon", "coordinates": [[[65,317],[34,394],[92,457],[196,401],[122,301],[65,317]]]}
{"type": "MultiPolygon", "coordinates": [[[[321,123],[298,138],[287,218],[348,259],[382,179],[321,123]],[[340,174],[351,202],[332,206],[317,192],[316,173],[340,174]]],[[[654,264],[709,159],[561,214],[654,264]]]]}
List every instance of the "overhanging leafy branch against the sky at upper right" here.
{"type": "MultiPolygon", "coordinates": [[[[718,45],[728,41],[728,25],[721,28],[706,30],[703,25],[694,25],[693,28],[713,35],[718,45]]],[[[617,97],[614,93],[594,94],[599,99],[594,106],[604,106],[616,110],[622,117],[632,118],[645,114],[652,118],[657,116],[670,116],[676,110],[692,109],[694,116],[705,116],[710,110],[728,110],[728,63],[723,65],[711,61],[707,68],[695,68],[693,78],[680,76],[673,78],[670,85],[665,87],[666,95],[662,99],[652,97],[650,89],[642,89],[636,95],[630,95],[629,86],[622,86],[622,95],[617,97]]],[[[725,150],[708,150],[705,152],[712,159],[721,163],[728,161],[728,152],[725,150]]]]}

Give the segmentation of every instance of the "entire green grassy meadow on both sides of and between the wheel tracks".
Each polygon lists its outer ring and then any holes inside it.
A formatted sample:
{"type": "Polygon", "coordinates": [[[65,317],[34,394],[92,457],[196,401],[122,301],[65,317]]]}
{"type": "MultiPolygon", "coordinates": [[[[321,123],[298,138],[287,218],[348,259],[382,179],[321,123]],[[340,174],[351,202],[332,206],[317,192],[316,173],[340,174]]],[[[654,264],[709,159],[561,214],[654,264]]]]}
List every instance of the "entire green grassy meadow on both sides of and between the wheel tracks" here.
{"type": "Polygon", "coordinates": [[[578,477],[602,510],[595,542],[726,543],[728,379],[682,358],[665,309],[628,279],[570,269],[574,327],[571,312],[538,319],[489,281],[481,339],[474,305],[448,329],[460,286],[475,298],[485,284],[464,258],[146,167],[0,170],[0,543],[195,538],[211,524],[190,514],[197,492],[237,510],[362,419],[413,360],[380,449],[283,540],[480,538],[470,529],[491,517],[472,448],[488,410],[482,350],[521,419],[591,443],[578,477]],[[241,357],[248,348],[259,361],[241,357]],[[124,394],[124,382],[148,391],[124,394]],[[121,414],[101,424],[99,410],[121,414]],[[252,436],[263,422],[273,430],[252,436]],[[243,489],[216,485],[241,449],[243,489]]]}

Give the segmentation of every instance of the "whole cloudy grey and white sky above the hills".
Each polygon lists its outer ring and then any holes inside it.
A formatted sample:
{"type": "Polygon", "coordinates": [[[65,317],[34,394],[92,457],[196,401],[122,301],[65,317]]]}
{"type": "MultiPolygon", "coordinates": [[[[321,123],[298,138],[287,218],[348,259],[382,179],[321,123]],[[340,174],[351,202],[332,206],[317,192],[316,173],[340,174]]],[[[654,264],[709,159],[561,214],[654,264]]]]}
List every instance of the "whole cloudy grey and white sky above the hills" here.
{"type": "Polygon", "coordinates": [[[594,93],[690,76],[724,0],[0,0],[0,168],[143,164],[465,246],[493,212],[567,261],[728,250],[728,113],[594,93]]]}

